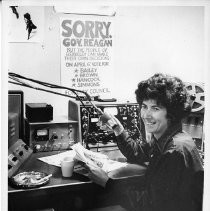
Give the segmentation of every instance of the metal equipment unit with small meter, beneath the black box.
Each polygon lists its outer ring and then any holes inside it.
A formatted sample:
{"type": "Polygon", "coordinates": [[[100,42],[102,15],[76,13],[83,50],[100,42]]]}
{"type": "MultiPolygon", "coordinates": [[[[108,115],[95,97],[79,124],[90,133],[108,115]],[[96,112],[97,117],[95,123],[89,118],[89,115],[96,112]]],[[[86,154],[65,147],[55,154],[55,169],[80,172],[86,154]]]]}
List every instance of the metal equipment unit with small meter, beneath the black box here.
{"type": "Polygon", "coordinates": [[[60,118],[51,122],[25,120],[26,140],[33,152],[70,149],[77,142],[77,122],[60,118]]]}

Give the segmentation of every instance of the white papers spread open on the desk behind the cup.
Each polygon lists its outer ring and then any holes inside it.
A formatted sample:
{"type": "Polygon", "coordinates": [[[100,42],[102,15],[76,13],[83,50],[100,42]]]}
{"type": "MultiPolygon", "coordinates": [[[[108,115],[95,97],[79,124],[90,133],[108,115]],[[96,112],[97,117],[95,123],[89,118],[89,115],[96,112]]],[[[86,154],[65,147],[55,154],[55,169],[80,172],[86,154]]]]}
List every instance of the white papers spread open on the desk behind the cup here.
{"type": "Polygon", "coordinates": [[[46,162],[50,165],[60,167],[61,160],[66,156],[73,156],[75,160],[82,161],[100,167],[105,172],[110,172],[122,167],[127,166],[127,163],[122,163],[110,160],[107,155],[99,152],[93,152],[85,149],[80,143],[72,146],[73,150],[62,152],[56,155],[39,158],[39,160],[46,162]]]}

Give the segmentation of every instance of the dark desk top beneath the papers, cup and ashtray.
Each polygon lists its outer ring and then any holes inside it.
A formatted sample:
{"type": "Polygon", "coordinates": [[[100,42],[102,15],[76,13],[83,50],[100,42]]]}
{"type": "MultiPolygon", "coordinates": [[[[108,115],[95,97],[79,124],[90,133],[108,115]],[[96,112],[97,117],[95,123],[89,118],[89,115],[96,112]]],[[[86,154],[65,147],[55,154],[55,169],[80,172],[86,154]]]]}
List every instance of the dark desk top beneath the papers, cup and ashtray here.
{"type": "MultiPolygon", "coordinates": [[[[98,185],[94,184],[89,180],[88,177],[73,173],[72,177],[64,178],[62,177],[61,168],[53,165],[49,165],[45,162],[38,160],[39,157],[49,156],[57,154],[58,152],[41,152],[33,153],[31,157],[21,166],[17,173],[24,171],[41,171],[47,174],[52,174],[49,183],[46,185],[33,188],[33,189],[16,189],[14,187],[8,186],[8,198],[9,203],[14,203],[13,207],[17,207],[18,203],[24,198],[28,201],[34,200],[34,203],[37,203],[37,200],[49,195],[62,195],[65,193],[85,193],[93,189],[100,189],[98,185]],[[16,202],[15,202],[16,201],[16,202]]],[[[110,159],[122,160],[123,155],[119,150],[107,151],[105,152],[110,159]]],[[[129,164],[127,167],[124,167],[120,170],[113,171],[110,173],[110,177],[115,178],[115,180],[120,181],[120,186],[128,184],[129,182],[138,181],[138,184],[141,183],[141,178],[145,173],[146,168],[143,166],[129,164]]],[[[142,179],[143,180],[143,179],[142,179]]],[[[102,190],[103,192],[103,190],[102,190]]],[[[39,201],[38,200],[38,201],[39,201]]],[[[33,204],[30,202],[30,204],[33,204]]],[[[13,210],[13,209],[11,209],[13,210]]],[[[14,209],[15,210],[15,209],[14,209]]]]}

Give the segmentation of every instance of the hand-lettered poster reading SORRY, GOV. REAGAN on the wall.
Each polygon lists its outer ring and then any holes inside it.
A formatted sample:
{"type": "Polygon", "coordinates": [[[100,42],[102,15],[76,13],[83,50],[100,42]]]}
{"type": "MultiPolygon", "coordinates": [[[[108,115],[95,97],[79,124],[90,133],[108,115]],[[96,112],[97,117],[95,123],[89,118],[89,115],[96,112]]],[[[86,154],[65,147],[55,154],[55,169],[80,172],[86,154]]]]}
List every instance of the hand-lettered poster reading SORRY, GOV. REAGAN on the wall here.
{"type": "MultiPolygon", "coordinates": [[[[61,85],[113,97],[113,17],[61,17],[60,36],[61,85]]],[[[68,90],[65,94],[72,95],[68,90]]]]}

